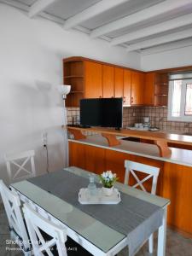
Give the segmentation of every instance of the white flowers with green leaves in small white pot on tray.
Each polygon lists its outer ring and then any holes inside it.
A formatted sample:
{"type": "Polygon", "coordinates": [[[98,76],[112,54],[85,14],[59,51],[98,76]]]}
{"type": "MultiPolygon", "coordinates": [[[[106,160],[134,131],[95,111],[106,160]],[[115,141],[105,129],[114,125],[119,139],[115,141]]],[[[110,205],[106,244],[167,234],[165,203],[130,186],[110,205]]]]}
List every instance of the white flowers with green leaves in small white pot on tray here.
{"type": "Polygon", "coordinates": [[[112,173],[111,171],[102,172],[102,174],[99,175],[99,178],[102,183],[102,191],[104,195],[112,195],[113,185],[118,180],[116,173],[112,173]]]}

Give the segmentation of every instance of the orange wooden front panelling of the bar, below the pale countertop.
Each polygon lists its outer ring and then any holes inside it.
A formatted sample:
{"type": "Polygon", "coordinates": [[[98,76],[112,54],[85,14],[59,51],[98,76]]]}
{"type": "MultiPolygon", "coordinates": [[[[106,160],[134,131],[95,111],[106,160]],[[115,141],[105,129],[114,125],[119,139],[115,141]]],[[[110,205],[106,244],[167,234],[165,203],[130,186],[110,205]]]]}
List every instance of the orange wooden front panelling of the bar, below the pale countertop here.
{"type": "MultiPolygon", "coordinates": [[[[107,170],[116,172],[121,183],[124,182],[125,177],[125,160],[159,167],[157,195],[171,200],[167,223],[187,236],[192,236],[192,167],[75,142],[69,142],[69,158],[70,166],[78,166],[90,172],[97,174],[107,170]]],[[[143,176],[138,175],[138,177],[143,176]]],[[[131,177],[130,184],[134,183],[135,180],[131,177]]],[[[144,184],[148,190],[150,181],[144,184]]]]}

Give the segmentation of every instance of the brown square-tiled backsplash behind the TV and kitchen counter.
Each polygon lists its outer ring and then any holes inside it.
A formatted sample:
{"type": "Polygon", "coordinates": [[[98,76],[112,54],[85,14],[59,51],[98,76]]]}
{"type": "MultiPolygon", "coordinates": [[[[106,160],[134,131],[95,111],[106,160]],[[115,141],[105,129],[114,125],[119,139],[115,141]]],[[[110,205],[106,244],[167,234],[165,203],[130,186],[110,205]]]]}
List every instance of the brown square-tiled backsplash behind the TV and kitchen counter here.
{"type": "MultiPolygon", "coordinates": [[[[123,126],[143,123],[143,117],[150,118],[151,126],[160,130],[186,131],[192,132],[192,122],[171,122],[167,121],[167,108],[165,107],[131,107],[124,108],[123,126]]],[[[67,108],[67,124],[79,123],[79,108],[67,108]]]]}

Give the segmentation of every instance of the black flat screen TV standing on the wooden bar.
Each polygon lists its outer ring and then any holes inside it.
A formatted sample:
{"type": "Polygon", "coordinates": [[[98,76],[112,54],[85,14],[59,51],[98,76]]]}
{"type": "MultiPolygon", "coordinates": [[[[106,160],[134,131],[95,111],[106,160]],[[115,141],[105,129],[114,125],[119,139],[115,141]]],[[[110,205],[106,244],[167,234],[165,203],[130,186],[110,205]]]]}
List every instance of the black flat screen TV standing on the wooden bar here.
{"type": "Polygon", "coordinates": [[[123,98],[80,100],[80,125],[84,127],[122,127],[123,98]]]}

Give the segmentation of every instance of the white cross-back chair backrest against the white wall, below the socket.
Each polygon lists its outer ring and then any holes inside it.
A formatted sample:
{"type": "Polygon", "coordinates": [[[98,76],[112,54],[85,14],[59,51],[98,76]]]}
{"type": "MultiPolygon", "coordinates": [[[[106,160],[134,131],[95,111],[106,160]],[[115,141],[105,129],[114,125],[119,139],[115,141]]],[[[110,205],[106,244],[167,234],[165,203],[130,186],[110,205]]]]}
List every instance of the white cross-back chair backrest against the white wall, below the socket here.
{"type": "Polygon", "coordinates": [[[34,150],[29,150],[26,152],[22,152],[20,154],[4,155],[4,160],[6,161],[7,171],[9,175],[9,183],[13,183],[28,177],[34,177],[36,175],[34,155],[35,155],[34,150]],[[22,160],[22,163],[19,164],[18,160],[22,160]],[[30,170],[27,170],[25,166],[29,160],[31,161],[31,166],[30,166],[30,170]],[[18,168],[15,172],[11,168],[11,164],[18,168]],[[21,175],[20,175],[20,172],[22,172],[21,175]]]}

